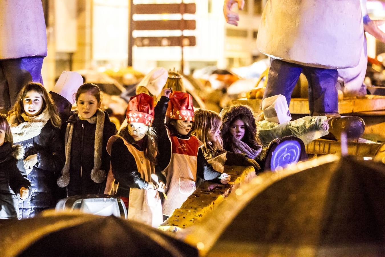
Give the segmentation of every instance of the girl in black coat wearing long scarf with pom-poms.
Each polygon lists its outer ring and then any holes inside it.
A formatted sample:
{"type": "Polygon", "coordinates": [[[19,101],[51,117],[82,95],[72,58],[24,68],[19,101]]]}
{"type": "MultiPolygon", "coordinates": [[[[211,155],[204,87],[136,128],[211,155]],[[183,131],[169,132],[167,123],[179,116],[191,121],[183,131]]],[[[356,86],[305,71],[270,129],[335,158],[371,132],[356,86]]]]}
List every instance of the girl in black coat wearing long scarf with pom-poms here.
{"type": "Polygon", "coordinates": [[[77,109],[66,123],[66,160],[57,185],[66,188],[68,196],[102,194],[110,169],[107,141],[116,127],[100,110],[102,99],[97,85],[82,84],[74,98],[77,109]]]}

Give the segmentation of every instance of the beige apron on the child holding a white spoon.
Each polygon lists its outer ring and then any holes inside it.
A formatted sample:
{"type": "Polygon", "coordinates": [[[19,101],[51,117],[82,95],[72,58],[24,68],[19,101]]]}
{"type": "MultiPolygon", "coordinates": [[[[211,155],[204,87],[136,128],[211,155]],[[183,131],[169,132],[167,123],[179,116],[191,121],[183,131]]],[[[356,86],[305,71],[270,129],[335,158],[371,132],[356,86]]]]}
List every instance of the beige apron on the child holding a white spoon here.
{"type": "MultiPolygon", "coordinates": [[[[154,165],[146,159],[143,151],[139,151],[121,136],[112,136],[107,143],[107,151],[111,154],[112,143],[121,138],[129,152],[134,156],[138,172],[142,179],[151,181],[151,174],[155,173],[154,165]]],[[[162,203],[158,190],[144,190],[130,188],[128,207],[128,219],[146,223],[152,227],[158,227],[163,223],[162,203]]]]}

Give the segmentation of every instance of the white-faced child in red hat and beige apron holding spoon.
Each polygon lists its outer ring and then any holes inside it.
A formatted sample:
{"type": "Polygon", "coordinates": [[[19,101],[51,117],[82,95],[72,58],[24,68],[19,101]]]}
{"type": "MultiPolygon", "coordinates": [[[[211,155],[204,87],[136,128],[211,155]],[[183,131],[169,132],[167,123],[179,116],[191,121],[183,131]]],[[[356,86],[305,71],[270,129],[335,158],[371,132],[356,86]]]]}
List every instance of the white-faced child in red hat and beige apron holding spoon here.
{"type": "MultiPolygon", "coordinates": [[[[116,195],[126,203],[128,219],[158,227],[163,222],[158,190],[164,191],[166,185],[161,173],[157,174],[159,188],[151,182],[158,153],[151,127],[153,106],[154,99],[147,94],[131,97],[126,111],[128,124],[109,139],[107,151],[111,155],[112,174],[119,182],[116,195]]],[[[111,171],[107,181],[111,181],[111,171]]]]}

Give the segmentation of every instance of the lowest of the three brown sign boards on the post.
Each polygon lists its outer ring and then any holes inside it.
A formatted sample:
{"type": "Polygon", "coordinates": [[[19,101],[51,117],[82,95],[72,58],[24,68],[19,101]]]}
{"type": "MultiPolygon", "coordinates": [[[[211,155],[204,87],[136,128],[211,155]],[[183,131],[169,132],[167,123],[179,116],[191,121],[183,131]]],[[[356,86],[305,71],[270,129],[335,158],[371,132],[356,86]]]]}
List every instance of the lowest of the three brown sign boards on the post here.
{"type": "Polygon", "coordinates": [[[195,37],[137,37],[136,46],[194,46],[195,37]]]}

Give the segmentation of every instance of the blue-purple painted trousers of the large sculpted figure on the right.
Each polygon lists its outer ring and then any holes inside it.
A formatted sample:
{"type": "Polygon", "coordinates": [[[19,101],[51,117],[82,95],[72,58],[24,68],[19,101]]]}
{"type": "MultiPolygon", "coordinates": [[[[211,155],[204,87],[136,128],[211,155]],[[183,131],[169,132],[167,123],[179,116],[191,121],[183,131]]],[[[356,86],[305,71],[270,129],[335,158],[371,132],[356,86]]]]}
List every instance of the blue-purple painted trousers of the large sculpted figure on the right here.
{"type": "Polygon", "coordinates": [[[336,69],[314,68],[270,58],[269,76],[263,99],[281,94],[286,97],[289,105],[291,93],[301,73],[306,76],[309,84],[310,115],[338,113],[336,69]]]}

